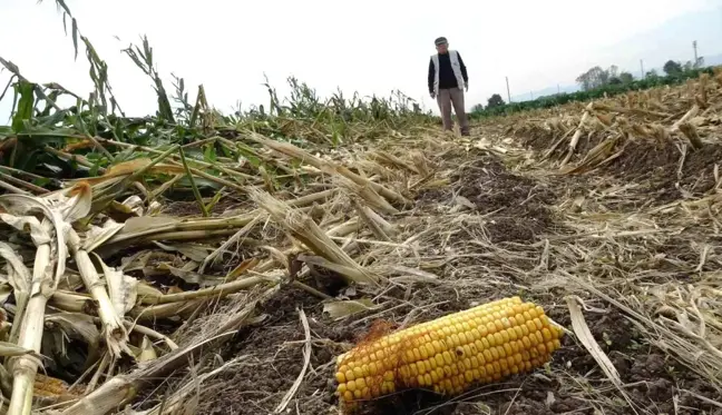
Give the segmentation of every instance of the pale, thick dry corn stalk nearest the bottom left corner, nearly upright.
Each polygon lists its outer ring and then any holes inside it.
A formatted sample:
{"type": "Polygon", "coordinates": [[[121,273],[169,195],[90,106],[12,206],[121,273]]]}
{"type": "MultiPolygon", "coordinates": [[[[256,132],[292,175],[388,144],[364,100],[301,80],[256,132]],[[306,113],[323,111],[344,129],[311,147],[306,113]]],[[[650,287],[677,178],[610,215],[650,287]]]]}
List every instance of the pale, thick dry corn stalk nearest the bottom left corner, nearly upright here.
{"type": "MultiPolygon", "coordinates": [[[[50,245],[38,246],[32,268],[32,288],[30,299],[22,318],[18,346],[40,353],[42,332],[45,328],[45,310],[48,304],[48,293],[43,293],[43,284],[51,279],[50,245]]],[[[45,288],[49,289],[49,288],[45,288]]],[[[28,415],[32,409],[32,387],[38,373],[38,360],[29,356],[20,356],[12,360],[12,396],[8,415],[28,415]]]]}

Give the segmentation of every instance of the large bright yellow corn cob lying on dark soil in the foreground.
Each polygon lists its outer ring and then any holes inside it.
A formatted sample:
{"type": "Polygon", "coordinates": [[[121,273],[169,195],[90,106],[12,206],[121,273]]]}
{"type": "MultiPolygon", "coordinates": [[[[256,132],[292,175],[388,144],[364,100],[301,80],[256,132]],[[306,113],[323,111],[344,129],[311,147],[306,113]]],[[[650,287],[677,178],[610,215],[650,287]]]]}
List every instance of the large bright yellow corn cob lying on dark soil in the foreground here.
{"type": "Polygon", "coordinates": [[[336,359],[347,404],[399,388],[457,395],[475,383],[529,372],[549,360],[563,332],[544,309],[504,298],[361,344],[336,359]]]}

